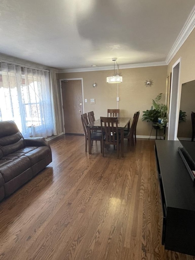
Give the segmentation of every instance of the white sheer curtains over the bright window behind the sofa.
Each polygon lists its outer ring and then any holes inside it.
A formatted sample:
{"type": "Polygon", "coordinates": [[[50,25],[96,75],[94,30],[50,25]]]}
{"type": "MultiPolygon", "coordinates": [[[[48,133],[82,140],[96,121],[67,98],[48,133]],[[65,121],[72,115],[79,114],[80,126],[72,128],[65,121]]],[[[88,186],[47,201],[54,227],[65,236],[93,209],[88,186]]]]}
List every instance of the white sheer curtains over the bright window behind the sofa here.
{"type": "Polygon", "coordinates": [[[0,65],[0,120],[14,120],[24,137],[51,136],[49,72],[0,65]]]}

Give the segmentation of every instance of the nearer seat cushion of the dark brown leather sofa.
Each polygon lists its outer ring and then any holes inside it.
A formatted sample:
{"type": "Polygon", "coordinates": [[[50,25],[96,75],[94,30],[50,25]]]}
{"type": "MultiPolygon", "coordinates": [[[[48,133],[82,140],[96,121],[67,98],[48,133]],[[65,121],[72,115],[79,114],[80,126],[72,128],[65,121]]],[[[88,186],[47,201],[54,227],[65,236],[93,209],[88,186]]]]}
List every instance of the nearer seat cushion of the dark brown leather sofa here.
{"type": "Polygon", "coordinates": [[[0,160],[0,162],[1,161],[4,161],[4,164],[0,164],[0,173],[5,182],[15,178],[31,166],[30,160],[26,156],[21,156],[14,160],[0,160]]]}

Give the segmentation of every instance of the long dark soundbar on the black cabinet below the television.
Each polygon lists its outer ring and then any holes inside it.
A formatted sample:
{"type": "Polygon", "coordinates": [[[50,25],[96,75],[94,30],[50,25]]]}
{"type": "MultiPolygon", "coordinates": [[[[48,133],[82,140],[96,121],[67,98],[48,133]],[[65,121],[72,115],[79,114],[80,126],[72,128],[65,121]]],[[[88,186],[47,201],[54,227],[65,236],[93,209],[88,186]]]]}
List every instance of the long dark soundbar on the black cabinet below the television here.
{"type": "Polygon", "coordinates": [[[178,152],[180,156],[182,157],[182,160],[184,164],[186,165],[186,168],[190,174],[190,177],[192,178],[193,182],[195,181],[195,163],[190,157],[190,155],[186,152],[186,150],[183,147],[178,147],[178,152]]]}

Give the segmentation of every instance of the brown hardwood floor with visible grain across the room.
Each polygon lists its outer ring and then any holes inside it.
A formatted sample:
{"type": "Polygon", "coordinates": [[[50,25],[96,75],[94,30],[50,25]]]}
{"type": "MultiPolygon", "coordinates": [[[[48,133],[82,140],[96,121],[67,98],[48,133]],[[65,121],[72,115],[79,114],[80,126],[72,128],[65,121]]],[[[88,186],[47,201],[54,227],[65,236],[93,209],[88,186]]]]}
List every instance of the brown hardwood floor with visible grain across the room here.
{"type": "Polygon", "coordinates": [[[161,245],[154,140],[125,157],[84,136],[50,141],[53,162],[0,203],[0,259],[192,260],[161,245]]]}

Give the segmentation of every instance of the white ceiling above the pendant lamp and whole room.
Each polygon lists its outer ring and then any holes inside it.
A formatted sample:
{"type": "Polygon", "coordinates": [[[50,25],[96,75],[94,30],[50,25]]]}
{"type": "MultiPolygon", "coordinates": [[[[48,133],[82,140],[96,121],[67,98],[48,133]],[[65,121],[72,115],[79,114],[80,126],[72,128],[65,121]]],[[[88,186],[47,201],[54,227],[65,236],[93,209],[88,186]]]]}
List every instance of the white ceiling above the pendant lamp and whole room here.
{"type": "Polygon", "coordinates": [[[0,53],[58,69],[163,62],[194,0],[1,0],[0,53]]]}

